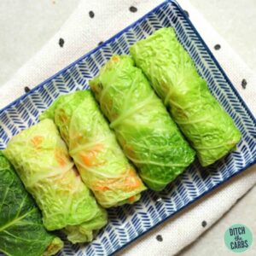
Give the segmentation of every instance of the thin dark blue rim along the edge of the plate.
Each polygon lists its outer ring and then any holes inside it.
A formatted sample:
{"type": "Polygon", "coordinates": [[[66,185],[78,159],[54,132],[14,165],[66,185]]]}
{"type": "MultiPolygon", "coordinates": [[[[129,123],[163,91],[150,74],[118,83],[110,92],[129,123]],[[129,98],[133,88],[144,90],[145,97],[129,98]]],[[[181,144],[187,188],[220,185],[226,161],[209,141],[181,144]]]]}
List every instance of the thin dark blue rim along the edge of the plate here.
{"type": "MultiPolygon", "coordinates": [[[[198,38],[198,40],[200,41],[200,43],[203,45],[204,49],[207,51],[207,54],[210,55],[212,61],[214,62],[214,64],[218,67],[218,71],[224,76],[225,81],[227,82],[227,84],[229,84],[231,90],[233,90],[233,92],[235,93],[236,97],[238,98],[239,102],[241,103],[241,105],[243,105],[243,108],[245,109],[245,111],[247,112],[247,114],[249,115],[249,117],[253,120],[253,123],[256,125],[256,117],[254,117],[252,111],[250,110],[250,108],[248,108],[247,103],[243,101],[241,95],[239,94],[238,90],[236,90],[236,87],[232,84],[232,82],[230,81],[229,77],[227,76],[227,74],[224,72],[224,69],[220,66],[220,64],[218,63],[217,59],[215,58],[215,56],[212,54],[212,51],[209,49],[209,47],[207,46],[207,44],[205,43],[205,41],[201,38],[200,33],[196,30],[195,26],[193,25],[192,21],[189,19],[189,17],[187,15],[184,14],[184,11],[182,9],[182,7],[177,3],[176,0],[165,0],[164,2],[158,4],[156,7],[154,7],[154,9],[151,9],[150,11],[148,11],[145,15],[143,15],[141,18],[139,18],[138,20],[134,21],[131,23],[131,25],[126,26],[124,29],[120,30],[119,32],[117,32],[116,34],[113,35],[113,37],[108,38],[108,40],[104,41],[103,44],[98,45],[96,48],[91,49],[90,51],[88,51],[86,54],[82,55],[81,57],[79,57],[79,59],[71,62],[69,65],[67,65],[67,67],[62,68],[59,72],[53,74],[52,76],[50,76],[48,79],[45,79],[43,82],[39,83],[38,85],[34,86],[32,88],[32,90],[30,90],[29,92],[25,93],[24,95],[18,97],[17,99],[15,99],[15,101],[10,102],[8,105],[6,105],[5,107],[3,107],[2,109],[0,109],[0,114],[4,113],[4,111],[6,111],[8,108],[12,108],[13,106],[15,106],[17,103],[19,103],[20,101],[22,101],[23,99],[26,98],[26,96],[31,95],[35,90],[38,90],[38,88],[41,88],[44,86],[44,84],[47,84],[48,82],[50,82],[52,79],[55,79],[57,76],[61,75],[62,73],[65,73],[67,71],[67,69],[69,69],[70,67],[75,66],[76,64],[79,63],[79,61],[82,61],[84,58],[86,58],[87,56],[90,56],[91,54],[95,53],[98,49],[102,49],[102,47],[104,47],[105,45],[107,45],[108,43],[111,43],[115,38],[118,38],[120,35],[122,35],[124,32],[128,31],[132,26],[136,26],[138,23],[140,23],[141,21],[143,21],[145,18],[148,17],[148,15],[151,15],[152,13],[154,13],[156,10],[160,9],[162,6],[164,6],[167,3],[173,3],[177,9],[180,11],[180,14],[182,15],[183,19],[186,20],[189,23],[189,26],[191,27],[191,29],[193,30],[193,32],[195,32],[196,37],[198,38]]],[[[246,169],[248,169],[250,166],[253,166],[254,164],[256,164],[256,156],[252,158],[252,160],[247,164],[247,166],[244,166],[243,168],[241,168],[238,172],[232,174],[229,177],[224,178],[224,180],[221,183],[218,183],[216,185],[213,185],[211,189],[208,189],[207,191],[203,192],[201,195],[198,195],[197,197],[195,197],[192,201],[189,201],[189,203],[187,203],[186,205],[184,205],[183,207],[180,207],[176,212],[173,212],[172,214],[166,216],[166,218],[163,218],[162,220],[160,220],[157,224],[154,224],[152,227],[150,227],[148,230],[145,230],[141,233],[138,234],[138,236],[132,238],[130,241],[127,241],[123,246],[117,248],[113,253],[110,253],[108,255],[113,255],[115,253],[118,253],[120,250],[124,249],[125,247],[131,245],[132,242],[136,241],[137,239],[141,238],[143,235],[147,234],[149,231],[154,230],[156,227],[160,226],[160,224],[163,224],[164,222],[166,222],[166,220],[172,218],[174,215],[176,215],[179,212],[182,212],[186,207],[191,206],[192,204],[194,204],[195,202],[199,201],[202,197],[204,197],[205,195],[210,195],[210,193],[212,193],[213,190],[218,189],[218,187],[220,187],[221,185],[224,185],[224,183],[230,181],[231,178],[238,176],[239,174],[241,174],[241,172],[244,172],[246,169]]]]}

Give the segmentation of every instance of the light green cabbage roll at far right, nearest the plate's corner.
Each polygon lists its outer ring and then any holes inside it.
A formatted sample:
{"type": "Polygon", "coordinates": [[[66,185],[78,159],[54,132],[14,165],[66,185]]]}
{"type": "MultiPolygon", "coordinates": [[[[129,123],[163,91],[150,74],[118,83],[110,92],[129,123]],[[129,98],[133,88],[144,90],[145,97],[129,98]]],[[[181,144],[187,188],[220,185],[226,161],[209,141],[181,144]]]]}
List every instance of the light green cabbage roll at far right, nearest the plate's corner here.
{"type": "Polygon", "coordinates": [[[142,68],[195,148],[202,166],[211,165],[236,147],[241,139],[240,131],[197,73],[173,28],[154,32],[130,50],[137,67],[142,68]]]}

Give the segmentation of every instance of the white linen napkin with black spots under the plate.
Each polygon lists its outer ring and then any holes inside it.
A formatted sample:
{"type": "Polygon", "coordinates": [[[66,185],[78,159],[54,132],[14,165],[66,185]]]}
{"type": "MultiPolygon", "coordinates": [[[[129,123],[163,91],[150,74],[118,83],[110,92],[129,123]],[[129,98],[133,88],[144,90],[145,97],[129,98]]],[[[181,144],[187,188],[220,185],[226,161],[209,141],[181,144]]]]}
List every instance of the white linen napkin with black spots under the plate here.
{"type": "MultiPolygon", "coordinates": [[[[162,0],[82,0],[73,15],[49,43],[32,57],[7,84],[0,88],[0,108],[49,78],[61,68],[94,49],[131,22],[153,9],[162,0]]],[[[189,13],[202,38],[236,86],[247,106],[256,113],[256,76],[215,32],[188,1],[178,1],[189,13]],[[219,47],[216,46],[219,44],[219,47]],[[215,48],[214,48],[215,46],[215,48]],[[243,87],[246,87],[244,89],[243,87]]],[[[124,255],[173,255],[189,245],[228,211],[256,183],[255,166],[215,189],[210,195],[178,213],[157,229],[148,232],[120,253],[124,255]]]]}

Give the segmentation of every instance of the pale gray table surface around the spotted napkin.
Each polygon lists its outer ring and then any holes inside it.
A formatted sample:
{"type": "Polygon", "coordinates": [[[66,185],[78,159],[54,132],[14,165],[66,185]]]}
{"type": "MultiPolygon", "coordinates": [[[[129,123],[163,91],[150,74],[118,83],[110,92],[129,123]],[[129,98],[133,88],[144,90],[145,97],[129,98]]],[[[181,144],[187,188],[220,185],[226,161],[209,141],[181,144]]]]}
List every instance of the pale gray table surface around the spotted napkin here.
{"type": "MultiPolygon", "coordinates": [[[[217,32],[256,72],[256,1],[190,0],[217,32]]],[[[11,79],[67,20],[79,0],[1,0],[0,1],[0,86],[11,79]]],[[[234,255],[223,242],[231,224],[244,223],[256,238],[256,188],[221,218],[211,230],[185,248],[180,256],[234,255]]],[[[242,255],[256,255],[253,249],[242,255]]]]}

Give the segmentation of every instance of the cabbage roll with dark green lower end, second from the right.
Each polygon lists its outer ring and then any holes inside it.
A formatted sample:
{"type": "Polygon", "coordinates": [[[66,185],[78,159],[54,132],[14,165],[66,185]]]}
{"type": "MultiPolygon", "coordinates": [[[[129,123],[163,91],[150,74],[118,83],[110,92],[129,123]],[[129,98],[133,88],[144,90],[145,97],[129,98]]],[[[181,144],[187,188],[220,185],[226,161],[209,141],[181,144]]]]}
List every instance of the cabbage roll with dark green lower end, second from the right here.
{"type": "Polygon", "coordinates": [[[130,56],[114,55],[90,88],[150,189],[164,189],[194,160],[194,150],[130,56]]]}

